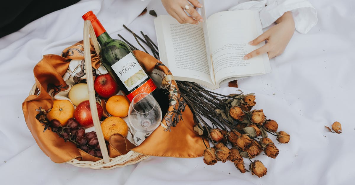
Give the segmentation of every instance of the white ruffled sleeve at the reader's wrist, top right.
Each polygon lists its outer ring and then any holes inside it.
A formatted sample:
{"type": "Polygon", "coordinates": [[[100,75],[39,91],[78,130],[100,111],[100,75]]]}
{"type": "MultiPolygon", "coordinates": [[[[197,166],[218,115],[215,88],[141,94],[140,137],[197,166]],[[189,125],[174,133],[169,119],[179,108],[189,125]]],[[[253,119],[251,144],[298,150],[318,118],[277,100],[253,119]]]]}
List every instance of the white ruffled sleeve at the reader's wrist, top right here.
{"type": "Polygon", "coordinates": [[[248,1],[231,7],[229,10],[257,10],[263,28],[270,26],[285,12],[291,11],[296,30],[307,33],[317,24],[317,11],[307,0],[259,0],[248,1]]]}

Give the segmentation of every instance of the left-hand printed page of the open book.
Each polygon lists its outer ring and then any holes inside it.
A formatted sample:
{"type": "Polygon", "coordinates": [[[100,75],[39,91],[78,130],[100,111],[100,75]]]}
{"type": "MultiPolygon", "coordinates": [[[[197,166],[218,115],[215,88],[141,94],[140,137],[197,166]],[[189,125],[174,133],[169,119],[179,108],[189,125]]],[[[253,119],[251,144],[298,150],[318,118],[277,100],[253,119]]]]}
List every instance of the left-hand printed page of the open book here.
{"type": "MultiPolygon", "coordinates": [[[[168,63],[168,68],[173,73],[176,80],[197,79],[205,81],[201,83],[212,83],[210,77],[210,67],[207,63],[206,46],[204,43],[204,35],[202,24],[180,24],[173,17],[161,15],[154,20],[157,25],[159,54],[164,45],[165,55],[161,58],[162,62],[168,63]],[[162,29],[162,33],[158,31],[162,29]],[[164,44],[160,44],[163,43],[164,44]]],[[[196,80],[195,80],[196,81],[196,80]]],[[[208,85],[211,86],[211,85],[208,85]]]]}

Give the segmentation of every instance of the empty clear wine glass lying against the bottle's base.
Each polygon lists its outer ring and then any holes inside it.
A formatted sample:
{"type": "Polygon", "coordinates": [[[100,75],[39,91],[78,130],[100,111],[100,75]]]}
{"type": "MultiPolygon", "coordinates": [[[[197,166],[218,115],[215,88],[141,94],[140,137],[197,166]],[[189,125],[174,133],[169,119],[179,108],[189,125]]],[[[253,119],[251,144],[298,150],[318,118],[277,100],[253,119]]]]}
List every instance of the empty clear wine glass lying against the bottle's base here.
{"type": "Polygon", "coordinates": [[[162,110],[152,95],[141,93],[132,99],[128,119],[133,129],[137,131],[133,139],[135,142],[142,142],[159,126],[162,121],[162,110]]]}

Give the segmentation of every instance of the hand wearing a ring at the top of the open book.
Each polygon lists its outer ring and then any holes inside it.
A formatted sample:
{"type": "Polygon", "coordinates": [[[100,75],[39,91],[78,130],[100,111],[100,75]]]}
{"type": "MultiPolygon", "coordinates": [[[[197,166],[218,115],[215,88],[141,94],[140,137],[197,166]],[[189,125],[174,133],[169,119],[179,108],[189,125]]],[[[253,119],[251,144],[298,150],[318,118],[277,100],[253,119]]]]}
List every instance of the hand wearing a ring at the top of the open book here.
{"type": "Polygon", "coordinates": [[[165,10],[179,23],[198,24],[198,21],[203,22],[201,15],[193,8],[193,6],[202,7],[198,0],[162,0],[162,4],[165,10]],[[185,9],[185,5],[189,5],[190,8],[185,9]],[[191,16],[188,16],[185,11],[191,16]]]}

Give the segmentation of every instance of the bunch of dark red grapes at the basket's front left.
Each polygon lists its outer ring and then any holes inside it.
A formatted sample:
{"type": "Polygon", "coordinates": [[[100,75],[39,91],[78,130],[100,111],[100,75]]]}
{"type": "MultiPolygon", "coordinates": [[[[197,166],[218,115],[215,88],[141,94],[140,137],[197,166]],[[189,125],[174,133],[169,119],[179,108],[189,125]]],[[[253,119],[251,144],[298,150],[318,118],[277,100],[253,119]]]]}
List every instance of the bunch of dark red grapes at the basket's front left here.
{"type": "Polygon", "coordinates": [[[71,141],[84,152],[102,158],[95,131],[85,133],[85,129],[79,128],[79,123],[74,118],[70,118],[65,127],[62,127],[58,120],[53,119],[49,122],[49,127],[65,141],[71,141]]]}

